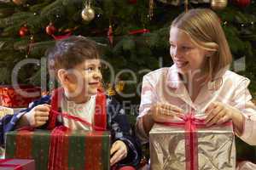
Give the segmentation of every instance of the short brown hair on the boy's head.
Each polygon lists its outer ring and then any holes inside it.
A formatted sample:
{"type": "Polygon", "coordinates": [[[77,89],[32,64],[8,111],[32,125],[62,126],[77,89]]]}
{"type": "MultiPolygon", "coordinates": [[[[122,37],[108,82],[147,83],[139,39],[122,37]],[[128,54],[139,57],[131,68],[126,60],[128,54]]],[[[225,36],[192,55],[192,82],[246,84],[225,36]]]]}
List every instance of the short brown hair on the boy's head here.
{"type": "Polygon", "coordinates": [[[45,55],[48,58],[51,76],[56,76],[60,69],[72,69],[85,59],[100,59],[96,42],[82,36],[67,37],[55,42],[55,46],[49,48],[45,55]]]}

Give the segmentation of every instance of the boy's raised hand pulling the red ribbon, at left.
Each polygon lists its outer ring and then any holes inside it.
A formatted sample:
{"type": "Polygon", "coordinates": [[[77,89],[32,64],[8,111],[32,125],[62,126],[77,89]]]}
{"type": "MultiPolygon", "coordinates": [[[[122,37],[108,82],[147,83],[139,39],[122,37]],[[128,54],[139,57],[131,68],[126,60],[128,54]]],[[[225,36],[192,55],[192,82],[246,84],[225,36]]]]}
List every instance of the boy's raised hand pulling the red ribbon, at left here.
{"type": "Polygon", "coordinates": [[[49,119],[50,105],[37,105],[31,111],[27,112],[26,116],[27,122],[32,127],[43,126],[49,119]]]}

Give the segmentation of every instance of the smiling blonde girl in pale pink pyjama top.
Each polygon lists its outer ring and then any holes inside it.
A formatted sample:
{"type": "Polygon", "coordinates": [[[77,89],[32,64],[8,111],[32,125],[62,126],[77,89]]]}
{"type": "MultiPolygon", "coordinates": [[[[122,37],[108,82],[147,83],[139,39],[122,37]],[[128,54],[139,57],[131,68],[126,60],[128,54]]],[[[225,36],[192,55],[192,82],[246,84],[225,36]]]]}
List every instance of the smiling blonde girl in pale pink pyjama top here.
{"type": "Polygon", "coordinates": [[[180,14],[169,42],[174,64],[143,77],[137,136],[147,142],[154,122],[194,112],[207,115],[207,126],[231,120],[238,137],[256,144],[250,81],[229,71],[232,56],[217,14],[204,8],[180,14]]]}

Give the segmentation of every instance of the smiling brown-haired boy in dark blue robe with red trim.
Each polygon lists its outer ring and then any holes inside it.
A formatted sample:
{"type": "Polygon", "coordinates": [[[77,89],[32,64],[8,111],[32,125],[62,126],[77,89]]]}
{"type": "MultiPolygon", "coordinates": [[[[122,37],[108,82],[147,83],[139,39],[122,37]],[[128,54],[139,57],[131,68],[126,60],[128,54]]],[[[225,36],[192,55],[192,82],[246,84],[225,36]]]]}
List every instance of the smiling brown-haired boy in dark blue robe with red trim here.
{"type": "MultiPolygon", "coordinates": [[[[121,169],[137,167],[140,147],[137,139],[131,136],[124,110],[116,100],[106,98],[98,90],[102,74],[96,43],[85,37],[68,37],[56,42],[47,56],[49,73],[55,75],[61,88],[56,89],[52,96],[33,102],[25,111],[3,117],[2,132],[26,125],[49,129],[64,125],[80,130],[106,129],[107,126],[113,139],[111,166],[115,164],[121,169]],[[107,111],[104,106],[107,106],[107,111]],[[60,113],[67,113],[67,116],[60,113]],[[81,118],[85,123],[68,116],[81,118]]],[[[1,138],[3,142],[3,134],[1,138]]]]}

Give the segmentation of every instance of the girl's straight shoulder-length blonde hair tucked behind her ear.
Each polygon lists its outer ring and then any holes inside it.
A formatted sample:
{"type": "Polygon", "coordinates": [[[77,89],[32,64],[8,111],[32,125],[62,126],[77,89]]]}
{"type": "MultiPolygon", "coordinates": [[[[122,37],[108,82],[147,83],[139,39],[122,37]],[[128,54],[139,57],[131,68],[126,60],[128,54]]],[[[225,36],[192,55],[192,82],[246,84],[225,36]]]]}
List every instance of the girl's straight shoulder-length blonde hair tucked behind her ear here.
{"type": "Polygon", "coordinates": [[[230,47],[218,15],[211,9],[190,9],[178,15],[172,26],[187,32],[196,45],[211,52],[202,69],[209,81],[218,79],[229,68],[232,62],[230,47]]]}

